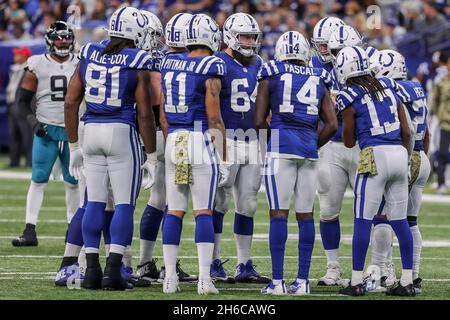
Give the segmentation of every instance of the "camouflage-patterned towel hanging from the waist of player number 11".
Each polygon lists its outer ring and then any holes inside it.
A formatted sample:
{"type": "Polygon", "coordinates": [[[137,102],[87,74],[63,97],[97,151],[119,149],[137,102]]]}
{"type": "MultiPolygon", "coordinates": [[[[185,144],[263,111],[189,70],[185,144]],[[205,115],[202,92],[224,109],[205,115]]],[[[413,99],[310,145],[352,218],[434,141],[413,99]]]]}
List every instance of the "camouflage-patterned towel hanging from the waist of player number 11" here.
{"type": "Polygon", "coordinates": [[[175,137],[175,184],[192,183],[189,163],[189,131],[178,131],[175,137]]]}

